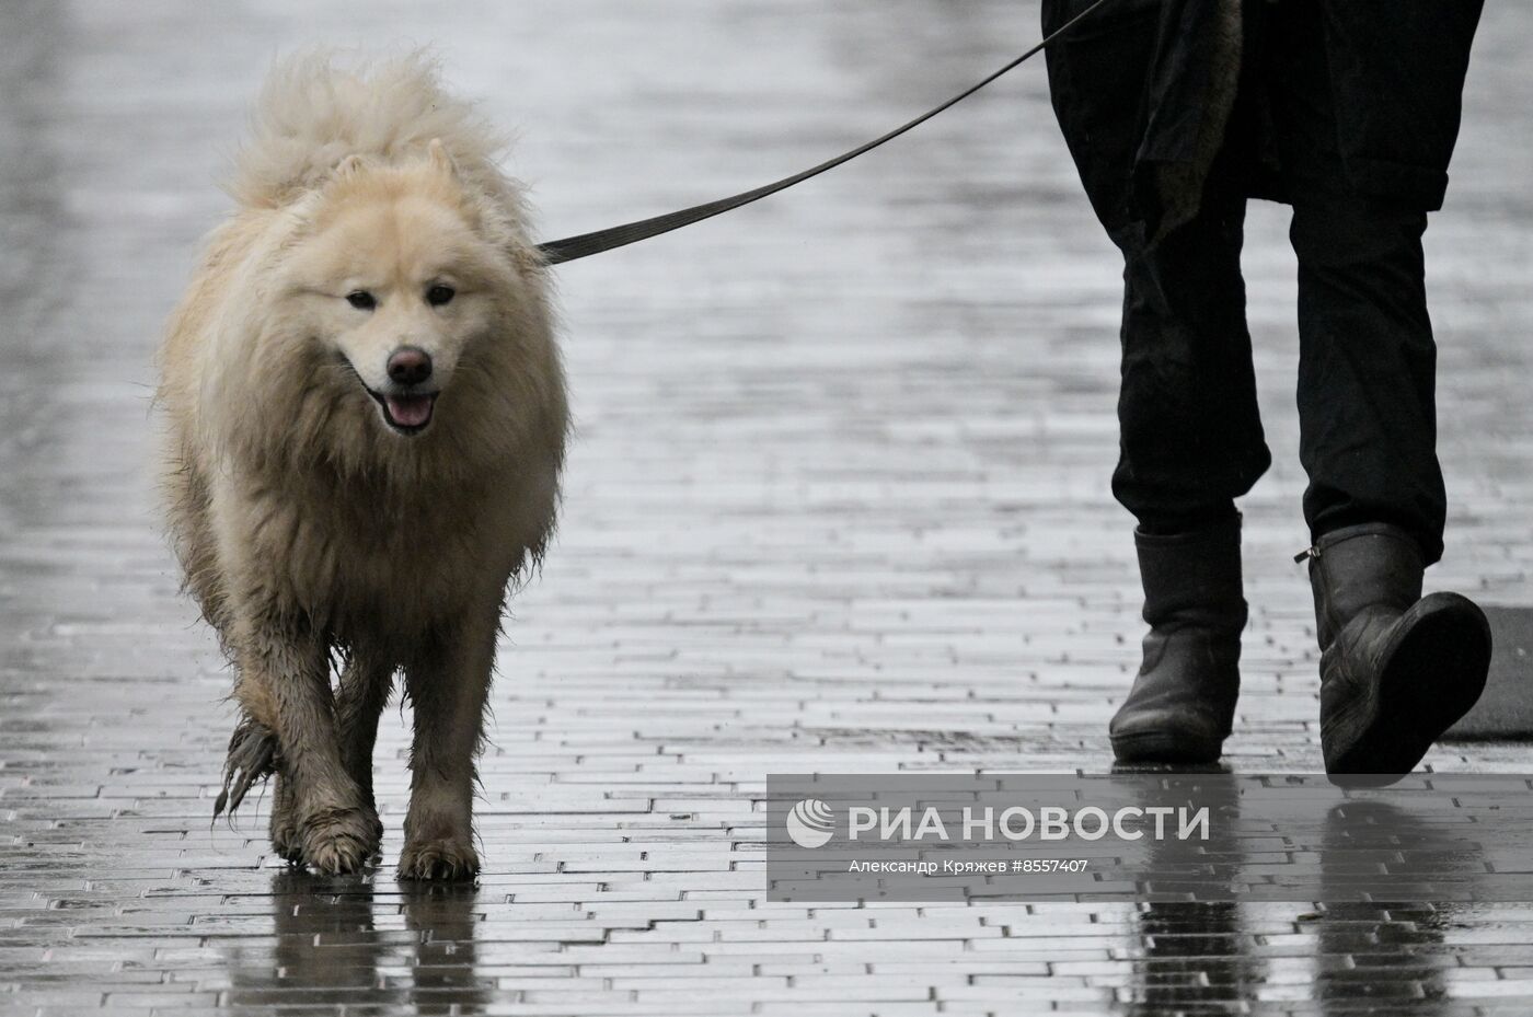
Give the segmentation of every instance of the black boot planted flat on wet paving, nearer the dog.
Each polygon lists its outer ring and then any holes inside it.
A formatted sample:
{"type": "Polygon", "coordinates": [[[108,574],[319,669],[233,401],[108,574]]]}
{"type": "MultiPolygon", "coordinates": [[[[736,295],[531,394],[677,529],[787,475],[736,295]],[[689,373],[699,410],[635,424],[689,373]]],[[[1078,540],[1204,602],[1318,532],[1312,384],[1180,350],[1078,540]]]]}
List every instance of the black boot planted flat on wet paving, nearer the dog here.
{"type": "Polygon", "coordinates": [[[1144,665],[1107,731],[1119,763],[1213,763],[1240,692],[1240,516],[1206,530],[1134,531],[1144,665]]]}

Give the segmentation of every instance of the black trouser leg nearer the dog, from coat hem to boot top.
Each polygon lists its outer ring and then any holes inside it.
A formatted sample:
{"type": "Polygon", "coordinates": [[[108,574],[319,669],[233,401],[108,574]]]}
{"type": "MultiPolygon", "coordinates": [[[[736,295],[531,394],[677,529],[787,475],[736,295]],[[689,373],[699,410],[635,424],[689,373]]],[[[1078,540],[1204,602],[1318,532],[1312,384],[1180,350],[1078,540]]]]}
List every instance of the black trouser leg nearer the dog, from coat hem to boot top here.
{"type": "Polygon", "coordinates": [[[1199,216],[1154,248],[1133,230],[1118,237],[1125,267],[1113,495],[1151,533],[1233,516],[1234,499],[1271,464],[1245,320],[1243,236],[1245,201],[1210,193],[1199,216]]]}

